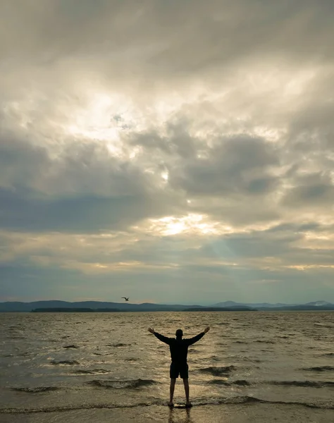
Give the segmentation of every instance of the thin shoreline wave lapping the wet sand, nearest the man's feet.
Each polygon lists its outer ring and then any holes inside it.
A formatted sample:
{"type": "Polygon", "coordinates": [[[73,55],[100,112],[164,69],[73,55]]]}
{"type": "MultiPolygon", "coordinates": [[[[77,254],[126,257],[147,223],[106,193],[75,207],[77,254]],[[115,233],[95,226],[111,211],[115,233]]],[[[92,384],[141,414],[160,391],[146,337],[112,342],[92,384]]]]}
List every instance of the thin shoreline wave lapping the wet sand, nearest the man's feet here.
{"type": "MultiPolygon", "coordinates": [[[[192,405],[195,407],[203,405],[221,405],[221,404],[280,404],[280,405],[296,405],[309,408],[323,409],[323,410],[334,410],[334,402],[327,403],[306,403],[297,401],[271,401],[262,400],[253,396],[234,396],[234,397],[218,397],[218,398],[198,398],[192,400],[192,405]]],[[[32,414],[37,412],[63,412],[73,410],[94,410],[94,409],[115,409],[115,408],[134,408],[134,407],[149,407],[149,406],[166,406],[165,401],[154,400],[151,402],[142,403],[126,403],[126,404],[112,404],[112,403],[82,403],[75,405],[58,405],[53,407],[41,406],[31,408],[0,408],[1,414],[32,414]]]]}

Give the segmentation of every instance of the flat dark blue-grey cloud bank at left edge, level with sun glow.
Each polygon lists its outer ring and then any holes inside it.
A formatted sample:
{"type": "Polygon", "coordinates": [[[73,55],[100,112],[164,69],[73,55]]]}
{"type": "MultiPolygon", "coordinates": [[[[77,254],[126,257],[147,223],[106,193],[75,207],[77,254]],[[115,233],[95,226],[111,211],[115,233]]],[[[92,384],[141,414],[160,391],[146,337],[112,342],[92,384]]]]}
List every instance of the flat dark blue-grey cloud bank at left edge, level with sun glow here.
{"type": "Polygon", "coordinates": [[[165,212],[164,208],[159,212],[154,201],[143,196],[86,195],[50,200],[34,198],[33,194],[0,190],[2,228],[74,233],[122,230],[147,215],[156,217],[165,212]]]}

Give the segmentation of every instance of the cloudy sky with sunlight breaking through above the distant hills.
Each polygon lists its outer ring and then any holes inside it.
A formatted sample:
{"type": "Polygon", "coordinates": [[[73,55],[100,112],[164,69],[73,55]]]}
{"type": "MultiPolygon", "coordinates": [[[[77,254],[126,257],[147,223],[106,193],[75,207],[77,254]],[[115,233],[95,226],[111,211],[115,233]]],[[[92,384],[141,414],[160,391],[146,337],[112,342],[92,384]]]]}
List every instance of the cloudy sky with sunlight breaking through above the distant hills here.
{"type": "Polygon", "coordinates": [[[334,302],[333,0],[2,0],[0,301],[334,302]]]}

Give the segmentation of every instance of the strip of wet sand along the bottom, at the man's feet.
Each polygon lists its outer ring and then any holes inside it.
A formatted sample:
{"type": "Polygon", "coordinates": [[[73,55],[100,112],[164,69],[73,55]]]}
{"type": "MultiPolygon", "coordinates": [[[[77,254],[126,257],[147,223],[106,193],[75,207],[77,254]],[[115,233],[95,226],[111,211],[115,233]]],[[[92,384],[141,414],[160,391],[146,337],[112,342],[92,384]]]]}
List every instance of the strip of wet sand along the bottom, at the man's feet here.
{"type": "Polygon", "coordinates": [[[190,410],[161,405],[128,409],[75,410],[39,412],[25,415],[0,415],[1,423],[331,423],[334,410],[321,410],[299,405],[204,405],[190,410]]]}

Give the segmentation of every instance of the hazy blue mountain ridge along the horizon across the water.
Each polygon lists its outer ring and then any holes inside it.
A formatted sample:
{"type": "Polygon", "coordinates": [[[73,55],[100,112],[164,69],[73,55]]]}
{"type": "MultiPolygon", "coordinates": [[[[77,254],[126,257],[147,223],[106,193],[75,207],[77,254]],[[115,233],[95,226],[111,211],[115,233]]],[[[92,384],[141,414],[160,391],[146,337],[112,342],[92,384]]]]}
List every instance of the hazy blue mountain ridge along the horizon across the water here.
{"type": "Polygon", "coordinates": [[[207,305],[181,305],[181,304],[154,304],[144,302],[133,304],[131,302],[107,302],[107,301],[78,301],[68,302],[61,300],[33,301],[33,302],[0,302],[0,312],[31,312],[34,309],[114,309],[119,312],[173,312],[196,309],[197,311],[241,311],[254,309],[259,311],[288,311],[288,310],[334,310],[331,302],[319,300],[307,302],[307,304],[283,304],[278,302],[242,303],[235,301],[218,302],[207,305]]]}

